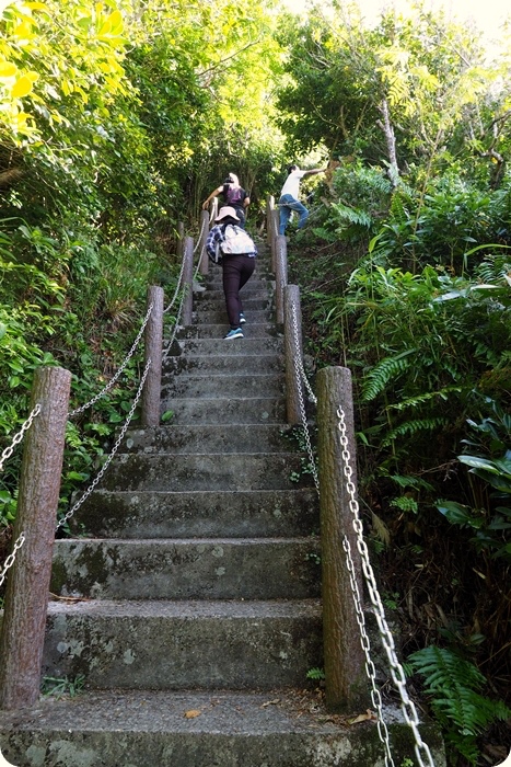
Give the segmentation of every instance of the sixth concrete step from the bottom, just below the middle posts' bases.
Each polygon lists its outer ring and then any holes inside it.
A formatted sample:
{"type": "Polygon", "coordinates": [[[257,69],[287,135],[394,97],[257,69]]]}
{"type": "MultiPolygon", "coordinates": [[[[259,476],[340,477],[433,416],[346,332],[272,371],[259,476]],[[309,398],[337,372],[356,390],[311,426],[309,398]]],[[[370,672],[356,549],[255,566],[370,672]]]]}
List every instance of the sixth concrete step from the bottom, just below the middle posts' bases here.
{"type": "MultiPolygon", "coordinates": [[[[209,379],[208,379],[209,380],[209,379]]],[[[295,430],[282,424],[195,424],[131,428],[123,453],[289,453],[295,430]]]]}

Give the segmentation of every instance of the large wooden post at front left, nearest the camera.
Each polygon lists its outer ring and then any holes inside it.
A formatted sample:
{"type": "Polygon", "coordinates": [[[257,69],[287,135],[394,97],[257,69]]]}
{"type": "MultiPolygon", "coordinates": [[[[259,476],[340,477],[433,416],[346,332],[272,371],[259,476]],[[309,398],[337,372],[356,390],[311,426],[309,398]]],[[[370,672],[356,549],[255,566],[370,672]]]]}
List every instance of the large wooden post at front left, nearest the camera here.
{"type": "Polygon", "coordinates": [[[35,371],[31,409],[40,412],[25,437],[13,539],[25,533],[8,576],[0,636],[0,708],[33,706],[39,697],[57,505],[71,374],[35,371]]]}

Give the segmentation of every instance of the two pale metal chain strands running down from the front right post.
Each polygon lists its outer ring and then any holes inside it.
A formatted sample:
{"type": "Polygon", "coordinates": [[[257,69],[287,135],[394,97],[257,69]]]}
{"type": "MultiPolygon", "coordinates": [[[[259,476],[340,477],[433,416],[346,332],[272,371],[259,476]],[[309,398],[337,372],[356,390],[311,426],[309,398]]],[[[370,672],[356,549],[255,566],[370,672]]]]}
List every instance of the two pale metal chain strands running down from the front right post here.
{"type": "MultiPolygon", "coordinates": [[[[434,762],[433,757],[431,756],[431,752],[429,749],[429,746],[422,741],[419,732],[419,719],[417,716],[417,709],[414,705],[414,702],[410,700],[408,696],[408,691],[406,689],[406,679],[405,679],[405,673],[403,671],[403,666],[400,665],[399,661],[397,660],[397,654],[395,650],[395,643],[394,643],[394,638],[391,633],[391,630],[388,628],[388,625],[386,622],[385,618],[385,610],[383,607],[383,603],[380,596],[380,593],[378,591],[376,586],[376,581],[374,577],[374,572],[371,566],[371,562],[369,559],[369,550],[365,545],[365,541],[363,539],[363,528],[362,528],[362,522],[360,519],[359,515],[359,504],[356,497],[356,488],[355,484],[351,480],[352,477],[352,469],[350,466],[350,453],[348,449],[348,436],[347,436],[347,431],[346,431],[346,420],[345,420],[345,411],[339,405],[337,410],[337,417],[338,417],[338,428],[340,432],[340,445],[342,447],[342,471],[346,478],[347,482],[347,489],[349,493],[349,507],[351,511],[351,514],[353,516],[352,519],[352,525],[353,529],[357,535],[357,548],[360,552],[360,557],[362,560],[362,572],[365,577],[365,583],[368,585],[369,589],[369,595],[371,598],[371,604],[374,607],[374,614],[376,617],[376,622],[378,627],[380,630],[380,637],[382,640],[382,644],[384,646],[385,653],[388,659],[388,663],[391,666],[391,676],[392,680],[394,682],[394,685],[396,686],[399,697],[402,700],[402,711],[403,716],[405,718],[406,723],[408,726],[411,729],[414,733],[414,739],[415,739],[415,754],[417,756],[417,760],[419,763],[420,767],[426,767],[426,765],[429,765],[429,767],[434,767],[434,762]],[[422,756],[425,757],[426,760],[422,759],[422,756]]],[[[362,648],[365,652],[365,657],[369,657],[369,650],[370,650],[370,642],[369,642],[369,637],[365,632],[365,623],[364,623],[364,617],[363,617],[363,608],[362,604],[360,600],[360,594],[358,591],[357,582],[355,580],[355,568],[353,568],[353,562],[351,559],[351,550],[350,550],[350,545],[345,536],[342,540],[342,548],[346,551],[347,554],[347,560],[348,560],[348,570],[350,573],[350,582],[351,582],[351,588],[352,588],[352,595],[353,595],[353,602],[355,602],[355,607],[357,610],[357,620],[360,626],[360,632],[361,632],[361,641],[362,641],[362,648]]],[[[372,661],[369,657],[368,661],[369,664],[369,672],[368,675],[371,679],[373,688],[375,687],[374,684],[374,665],[372,661]]],[[[381,714],[381,696],[380,692],[378,692],[378,696],[375,696],[375,699],[380,699],[380,708],[379,708],[379,713],[381,714]]],[[[374,700],[373,700],[374,702],[374,700]]],[[[375,703],[376,705],[376,703],[375,703]]],[[[376,706],[378,708],[378,706],[376,706]]],[[[386,757],[385,757],[385,764],[387,764],[387,757],[390,757],[390,763],[393,765],[392,756],[390,753],[390,745],[388,745],[388,732],[386,730],[386,726],[383,728],[383,734],[380,730],[379,726],[379,733],[382,742],[385,744],[385,751],[386,751],[386,757]]]]}

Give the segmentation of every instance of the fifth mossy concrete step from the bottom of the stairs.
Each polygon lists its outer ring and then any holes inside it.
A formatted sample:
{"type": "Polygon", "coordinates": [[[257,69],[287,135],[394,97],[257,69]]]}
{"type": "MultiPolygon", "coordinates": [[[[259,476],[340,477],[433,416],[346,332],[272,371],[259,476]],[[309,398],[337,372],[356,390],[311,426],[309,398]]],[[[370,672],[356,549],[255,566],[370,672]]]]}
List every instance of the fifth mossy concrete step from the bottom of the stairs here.
{"type": "Polygon", "coordinates": [[[311,484],[295,453],[230,455],[117,454],[103,479],[105,490],[291,490],[311,484]]]}

